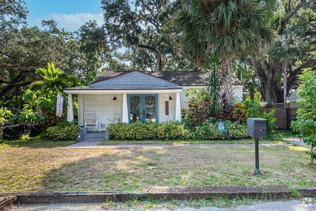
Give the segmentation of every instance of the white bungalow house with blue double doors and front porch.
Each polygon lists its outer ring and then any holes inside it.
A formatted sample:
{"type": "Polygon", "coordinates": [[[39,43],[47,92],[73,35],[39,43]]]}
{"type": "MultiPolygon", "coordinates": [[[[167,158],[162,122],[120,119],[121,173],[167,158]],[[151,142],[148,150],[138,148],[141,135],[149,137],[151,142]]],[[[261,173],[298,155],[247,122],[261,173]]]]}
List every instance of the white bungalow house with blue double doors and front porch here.
{"type": "MultiPolygon", "coordinates": [[[[205,77],[199,71],[104,71],[88,87],[64,89],[67,120],[73,120],[72,94],[77,94],[81,127],[86,125],[87,113],[98,120],[98,130],[113,119],[123,123],[180,121],[180,109],[188,102],[184,89],[204,88],[205,77]]],[[[242,83],[236,78],[234,92],[237,97],[243,95],[242,83]]]]}

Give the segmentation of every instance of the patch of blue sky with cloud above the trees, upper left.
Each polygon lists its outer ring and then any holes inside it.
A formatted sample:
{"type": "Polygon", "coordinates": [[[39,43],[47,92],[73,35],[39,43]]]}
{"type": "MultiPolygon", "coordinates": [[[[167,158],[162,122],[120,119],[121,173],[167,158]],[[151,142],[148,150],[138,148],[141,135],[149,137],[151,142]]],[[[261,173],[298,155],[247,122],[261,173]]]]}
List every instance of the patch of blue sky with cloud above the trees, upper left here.
{"type": "Polygon", "coordinates": [[[103,23],[101,0],[25,0],[29,11],[27,22],[41,26],[42,19],[53,19],[59,28],[77,30],[89,19],[103,23]]]}

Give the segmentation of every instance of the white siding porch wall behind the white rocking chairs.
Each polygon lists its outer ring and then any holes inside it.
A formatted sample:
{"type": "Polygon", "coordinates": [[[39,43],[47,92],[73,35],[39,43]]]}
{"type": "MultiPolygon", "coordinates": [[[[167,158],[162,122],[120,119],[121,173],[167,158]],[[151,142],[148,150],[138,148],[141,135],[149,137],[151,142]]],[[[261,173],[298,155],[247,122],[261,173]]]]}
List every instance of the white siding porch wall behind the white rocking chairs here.
{"type": "MultiPolygon", "coordinates": [[[[113,113],[123,109],[123,94],[115,94],[116,100],[113,100],[114,94],[83,94],[83,112],[94,111],[98,123],[106,123],[107,119],[113,119],[113,113]]],[[[80,100],[78,96],[78,106],[80,100]]],[[[79,108],[80,109],[80,108],[79,108]]],[[[79,125],[84,125],[83,112],[79,112],[79,125]]]]}

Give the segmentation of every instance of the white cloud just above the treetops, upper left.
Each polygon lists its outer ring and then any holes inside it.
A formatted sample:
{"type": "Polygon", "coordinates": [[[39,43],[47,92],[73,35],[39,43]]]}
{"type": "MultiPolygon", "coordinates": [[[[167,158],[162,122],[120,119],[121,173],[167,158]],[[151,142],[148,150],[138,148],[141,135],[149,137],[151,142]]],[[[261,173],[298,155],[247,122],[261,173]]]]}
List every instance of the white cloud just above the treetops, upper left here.
{"type": "Polygon", "coordinates": [[[65,28],[68,31],[78,30],[80,26],[85,24],[88,20],[96,20],[98,25],[101,26],[104,22],[103,14],[91,14],[91,13],[76,13],[76,14],[60,14],[52,13],[46,16],[36,18],[36,25],[40,25],[42,20],[51,20],[57,22],[58,28],[65,28]]]}

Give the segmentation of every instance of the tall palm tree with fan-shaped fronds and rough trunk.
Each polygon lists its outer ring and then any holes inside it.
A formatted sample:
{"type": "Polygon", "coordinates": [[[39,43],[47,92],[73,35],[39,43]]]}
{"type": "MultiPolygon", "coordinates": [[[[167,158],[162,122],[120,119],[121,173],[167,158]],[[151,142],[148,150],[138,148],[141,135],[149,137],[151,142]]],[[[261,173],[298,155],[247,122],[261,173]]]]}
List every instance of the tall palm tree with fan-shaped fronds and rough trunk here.
{"type": "Polygon", "coordinates": [[[183,51],[200,65],[211,54],[221,55],[224,91],[233,104],[232,59],[258,53],[274,32],[268,27],[275,0],[183,0],[176,18],[183,51]]]}

